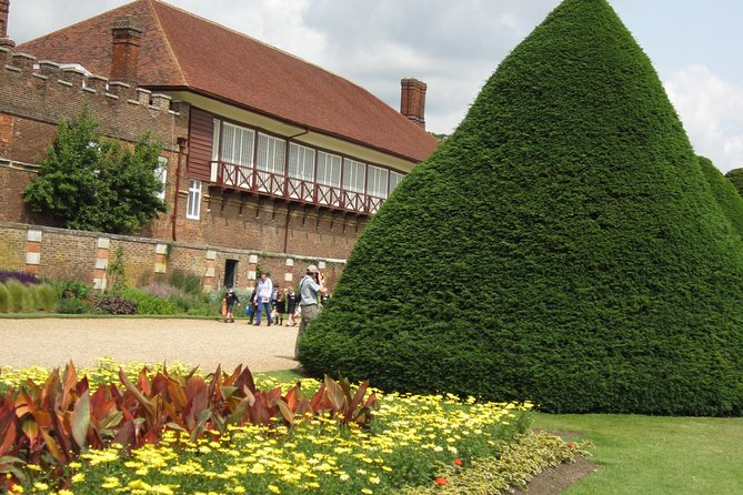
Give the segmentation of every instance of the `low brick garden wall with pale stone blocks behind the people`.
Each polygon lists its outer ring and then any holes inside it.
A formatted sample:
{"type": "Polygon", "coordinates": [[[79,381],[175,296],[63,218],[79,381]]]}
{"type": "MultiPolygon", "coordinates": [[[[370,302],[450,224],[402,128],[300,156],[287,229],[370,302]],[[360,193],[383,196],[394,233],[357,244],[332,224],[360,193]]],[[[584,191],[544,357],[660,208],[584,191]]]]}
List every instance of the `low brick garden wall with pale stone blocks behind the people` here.
{"type": "Polygon", "coordinates": [[[252,287],[258,271],[269,272],[279,286],[297,284],[309,264],[320,265],[332,287],[344,266],[343,260],[323,256],[0,222],[0,270],[24,270],[58,280],[79,280],[102,289],[104,284],[99,281],[106,277],[106,269],[114,261],[119,248],[127,280],[132,285],[158,276],[167,277],[172,271],[181,270],[199,276],[212,289],[221,289],[225,264],[232,260],[237,261],[237,287],[252,287]]]}

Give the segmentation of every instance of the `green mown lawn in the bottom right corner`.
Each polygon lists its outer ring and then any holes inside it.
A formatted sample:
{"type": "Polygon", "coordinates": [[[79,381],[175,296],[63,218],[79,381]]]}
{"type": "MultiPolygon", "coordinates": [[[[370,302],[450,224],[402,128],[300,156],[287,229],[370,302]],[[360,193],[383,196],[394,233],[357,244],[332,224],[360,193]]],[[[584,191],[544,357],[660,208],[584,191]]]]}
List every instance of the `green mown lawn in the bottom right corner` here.
{"type": "Polygon", "coordinates": [[[534,427],[595,444],[582,494],[743,494],[743,418],[534,414],[534,427]]]}

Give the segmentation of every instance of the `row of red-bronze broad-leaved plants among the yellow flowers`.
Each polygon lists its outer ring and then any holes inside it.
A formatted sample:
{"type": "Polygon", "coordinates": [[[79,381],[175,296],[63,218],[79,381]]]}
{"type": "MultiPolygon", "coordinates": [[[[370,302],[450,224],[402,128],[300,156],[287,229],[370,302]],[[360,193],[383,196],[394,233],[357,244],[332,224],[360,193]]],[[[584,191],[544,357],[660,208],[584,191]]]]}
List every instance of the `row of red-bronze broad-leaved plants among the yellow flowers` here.
{"type": "Polygon", "coordinates": [[[163,366],[150,378],[143,368],[131,383],[120,370],[121,388],[107,384],[91,394],[88,378],[79,380],[70,363],[61,376],[57,368],[41,386],[27,381],[7,392],[0,396],[0,487],[10,489],[18,483],[24,464],[49,466],[62,476],[62,467],[88,448],[111,443],[137,448],[157,443],[167,430],[193,441],[208,432],[221,435],[228,425],[291,426],[317,415],[364,426],[379,407],[374,393],[364,398],[369,382],[352,393],[347,378],[325,376],[307,398],[300,382],[285,395],[280,387],[258,390],[242,365],[232,374],[219,366],[209,382],[195,371],[171,375],[163,366]]]}

